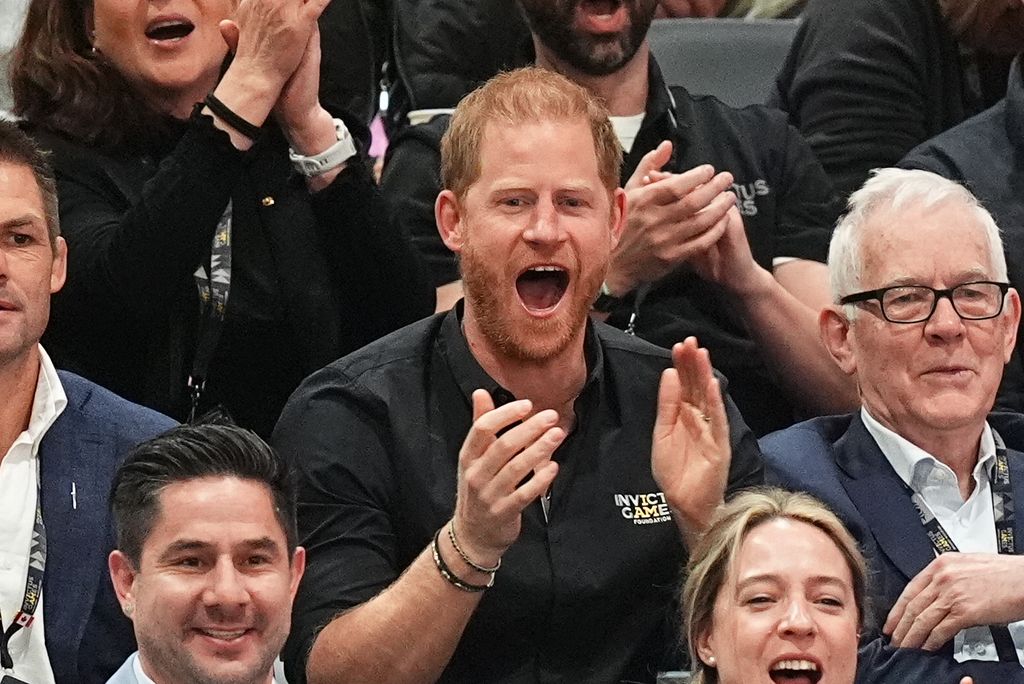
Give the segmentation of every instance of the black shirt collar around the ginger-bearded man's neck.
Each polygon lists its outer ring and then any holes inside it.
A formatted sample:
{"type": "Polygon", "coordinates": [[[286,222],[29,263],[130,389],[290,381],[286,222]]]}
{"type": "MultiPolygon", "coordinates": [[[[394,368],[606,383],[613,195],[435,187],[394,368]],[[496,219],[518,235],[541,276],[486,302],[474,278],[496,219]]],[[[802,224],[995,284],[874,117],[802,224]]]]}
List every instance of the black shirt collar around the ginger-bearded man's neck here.
{"type": "MultiPolygon", "coordinates": [[[[444,316],[438,336],[438,347],[441,355],[452,370],[452,375],[455,376],[455,381],[459,385],[463,397],[472,404],[473,391],[485,389],[494,398],[496,407],[514,400],[516,397],[512,392],[487,375],[487,372],[483,370],[470,350],[466,336],[462,332],[463,313],[464,306],[463,302],[460,301],[444,316]]],[[[584,384],[581,396],[587,393],[591,386],[599,384],[604,375],[604,353],[594,331],[594,324],[589,317],[584,337],[584,356],[587,360],[587,382],[584,384]]]]}

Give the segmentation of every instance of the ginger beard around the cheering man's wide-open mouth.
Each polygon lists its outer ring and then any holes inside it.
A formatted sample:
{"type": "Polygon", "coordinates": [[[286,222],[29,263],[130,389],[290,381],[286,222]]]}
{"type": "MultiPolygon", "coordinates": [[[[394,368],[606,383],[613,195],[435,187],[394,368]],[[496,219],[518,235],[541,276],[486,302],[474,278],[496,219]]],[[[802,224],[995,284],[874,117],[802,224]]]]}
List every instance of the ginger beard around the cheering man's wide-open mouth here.
{"type": "Polygon", "coordinates": [[[521,307],[515,290],[515,273],[503,272],[507,259],[495,259],[494,255],[479,254],[471,239],[466,240],[460,259],[463,290],[473,319],[480,332],[502,354],[524,362],[538,364],[564,351],[586,330],[587,316],[597,291],[604,281],[605,268],[581,272],[578,263],[575,272],[569,272],[569,289],[562,295],[559,306],[567,307],[550,318],[522,320],[527,315],[515,307],[521,307]],[[492,258],[488,258],[492,257],[492,258]],[[506,292],[504,284],[511,282],[512,292],[506,292]],[[574,286],[574,287],[573,287],[574,286]],[[574,297],[564,301],[566,297],[574,297]],[[508,303],[512,310],[506,315],[502,307],[508,303]]]}

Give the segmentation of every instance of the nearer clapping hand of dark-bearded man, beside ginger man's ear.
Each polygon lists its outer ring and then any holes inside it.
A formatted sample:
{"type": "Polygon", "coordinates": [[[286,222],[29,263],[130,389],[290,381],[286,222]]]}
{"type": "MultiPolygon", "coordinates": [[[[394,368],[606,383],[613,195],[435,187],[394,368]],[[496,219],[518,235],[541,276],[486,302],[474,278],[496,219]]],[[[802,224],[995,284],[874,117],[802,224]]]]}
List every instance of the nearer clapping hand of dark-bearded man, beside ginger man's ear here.
{"type": "Polygon", "coordinates": [[[626,183],[629,216],[611,258],[606,282],[623,295],[654,282],[725,232],[725,215],[736,203],[732,175],[698,166],[685,173],[658,171],[672,156],[672,143],[647,153],[626,183]]]}

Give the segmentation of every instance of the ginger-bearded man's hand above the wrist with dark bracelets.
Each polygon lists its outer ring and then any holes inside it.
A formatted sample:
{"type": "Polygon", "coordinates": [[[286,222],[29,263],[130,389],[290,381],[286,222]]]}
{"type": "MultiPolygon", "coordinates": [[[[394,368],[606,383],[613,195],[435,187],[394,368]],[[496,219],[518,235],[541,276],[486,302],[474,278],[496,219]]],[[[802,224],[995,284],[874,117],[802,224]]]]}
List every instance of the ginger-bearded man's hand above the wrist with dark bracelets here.
{"type": "Polygon", "coordinates": [[[496,565],[519,538],[523,509],[548,490],[558,473],[551,460],[565,438],[558,414],[548,410],[527,419],[531,411],[528,399],[495,409],[487,392],[473,392],[473,425],[459,452],[453,523],[462,548],[480,565],[496,565]]]}

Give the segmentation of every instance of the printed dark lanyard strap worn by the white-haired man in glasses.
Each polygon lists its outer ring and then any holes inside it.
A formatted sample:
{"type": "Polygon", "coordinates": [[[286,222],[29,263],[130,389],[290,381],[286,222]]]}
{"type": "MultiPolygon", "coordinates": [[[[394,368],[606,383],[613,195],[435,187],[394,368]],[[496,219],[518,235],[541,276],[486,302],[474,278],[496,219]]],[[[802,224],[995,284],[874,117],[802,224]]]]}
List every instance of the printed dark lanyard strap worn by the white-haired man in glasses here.
{"type": "MultiPolygon", "coordinates": [[[[1010,459],[1007,457],[1007,446],[995,430],[992,430],[992,437],[995,440],[995,467],[992,468],[992,475],[989,478],[989,488],[992,493],[992,517],[995,520],[995,545],[998,553],[1009,555],[1014,553],[1014,489],[1010,481],[1010,459]]],[[[959,549],[953,538],[935,517],[925,498],[909,485],[904,483],[903,486],[910,494],[910,501],[918,509],[921,523],[925,526],[925,532],[935,553],[939,555],[958,553],[959,549]]],[[[1017,647],[1007,626],[989,625],[988,629],[992,633],[992,642],[995,644],[999,660],[1018,662],[1017,647]]]]}

